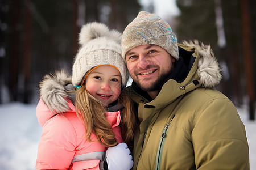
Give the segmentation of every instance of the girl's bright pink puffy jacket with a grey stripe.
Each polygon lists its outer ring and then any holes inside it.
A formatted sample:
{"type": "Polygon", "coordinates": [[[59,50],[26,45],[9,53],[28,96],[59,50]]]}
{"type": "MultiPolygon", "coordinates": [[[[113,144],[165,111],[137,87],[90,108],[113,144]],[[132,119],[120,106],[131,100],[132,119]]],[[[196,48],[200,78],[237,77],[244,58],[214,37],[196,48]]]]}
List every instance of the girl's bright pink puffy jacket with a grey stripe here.
{"type": "MultiPolygon", "coordinates": [[[[48,109],[40,99],[36,116],[43,127],[38,146],[36,169],[99,169],[99,163],[105,159],[106,147],[98,141],[88,142],[85,128],[76,115],[75,106],[69,101],[70,111],[56,114],[48,109]]],[[[113,127],[118,143],[122,142],[120,112],[107,112],[106,117],[113,127]]],[[[96,136],[92,134],[92,140],[96,136]]]]}

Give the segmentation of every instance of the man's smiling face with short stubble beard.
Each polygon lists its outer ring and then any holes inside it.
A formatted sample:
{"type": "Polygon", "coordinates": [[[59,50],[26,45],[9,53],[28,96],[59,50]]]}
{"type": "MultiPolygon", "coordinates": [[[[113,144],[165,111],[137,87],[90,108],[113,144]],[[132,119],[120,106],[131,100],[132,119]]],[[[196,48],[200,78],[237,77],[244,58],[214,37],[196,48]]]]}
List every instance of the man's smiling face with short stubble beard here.
{"type": "Polygon", "coordinates": [[[146,91],[159,90],[175,62],[175,58],[158,45],[137,46],[125,57],[131,78],[146,91]]]}

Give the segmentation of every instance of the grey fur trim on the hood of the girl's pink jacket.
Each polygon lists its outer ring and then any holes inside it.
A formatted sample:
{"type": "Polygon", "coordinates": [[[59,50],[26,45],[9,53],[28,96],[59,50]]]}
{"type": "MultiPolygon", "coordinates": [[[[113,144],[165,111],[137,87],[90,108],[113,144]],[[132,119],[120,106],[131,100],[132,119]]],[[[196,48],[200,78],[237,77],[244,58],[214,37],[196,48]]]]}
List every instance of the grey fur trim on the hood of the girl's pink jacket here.
{"type": "Polygon", "coordinates": [[[44,76],[39,84],[40,97],[53,113],[61,113],[69,110],[69,95],[65,86],[71,84],[71,75],[66,71],[60,70],[53,74],[44,76]]]}

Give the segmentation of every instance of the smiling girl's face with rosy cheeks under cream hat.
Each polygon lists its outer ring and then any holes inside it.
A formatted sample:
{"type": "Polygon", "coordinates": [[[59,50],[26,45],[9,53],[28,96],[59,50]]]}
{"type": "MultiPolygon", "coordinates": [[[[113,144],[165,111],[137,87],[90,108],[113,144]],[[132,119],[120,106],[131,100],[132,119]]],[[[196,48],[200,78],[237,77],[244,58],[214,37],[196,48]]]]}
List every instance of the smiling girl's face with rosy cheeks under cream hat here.
{"type": "Polygon", "coordinates": [[[90,95],[108,106],[117,100],[121,92],[121,74],[113,66],[102,65],[85,79],[85,88],[90,95]]]}

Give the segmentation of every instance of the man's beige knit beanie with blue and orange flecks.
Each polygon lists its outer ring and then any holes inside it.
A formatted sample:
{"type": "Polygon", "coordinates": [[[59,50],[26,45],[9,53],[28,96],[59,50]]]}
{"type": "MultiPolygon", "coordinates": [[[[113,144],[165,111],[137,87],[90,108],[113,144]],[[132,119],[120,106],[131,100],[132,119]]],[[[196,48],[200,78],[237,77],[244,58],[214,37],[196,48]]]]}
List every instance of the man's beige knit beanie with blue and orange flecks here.
{"type": "Polygon", "coordinates": [[[122,56],[125,62],[125,54],[130,49],[147,44],[159,45],[179,60],[176,35],[170,25],[156,14],[141,11],[123,31],[122,56]]]}

